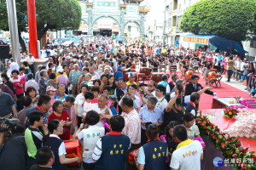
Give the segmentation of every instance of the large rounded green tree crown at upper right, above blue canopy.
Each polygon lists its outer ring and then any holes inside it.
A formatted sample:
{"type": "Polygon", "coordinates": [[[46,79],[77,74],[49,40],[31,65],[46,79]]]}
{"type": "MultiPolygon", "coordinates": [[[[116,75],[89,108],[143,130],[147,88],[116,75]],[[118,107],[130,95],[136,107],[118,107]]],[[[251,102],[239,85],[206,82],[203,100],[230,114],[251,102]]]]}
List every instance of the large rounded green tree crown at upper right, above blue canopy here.
{"type": "Polygon", "coordinates": [[[241,43],[256,34],[255,16],[255,0],[201,0],[185,11],[179,28],[241,43]]]}

